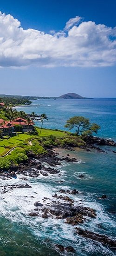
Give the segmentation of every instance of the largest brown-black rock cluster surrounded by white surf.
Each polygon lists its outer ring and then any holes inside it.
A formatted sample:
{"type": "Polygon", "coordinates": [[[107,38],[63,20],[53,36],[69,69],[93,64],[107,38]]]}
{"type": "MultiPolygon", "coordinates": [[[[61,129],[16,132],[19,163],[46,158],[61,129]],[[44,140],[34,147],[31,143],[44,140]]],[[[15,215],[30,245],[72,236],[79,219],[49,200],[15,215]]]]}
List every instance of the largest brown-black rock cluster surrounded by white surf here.
{"type": "MultiPolygon", "coordinates": [[[[39,202],[35,202],[34,206],[37,208],[32,210],[31,216],[34,216],[34,212],[38,211],[38,216],[43,218],[56,218],[65,219],[65,223],[71,225],[77,225],[78,223],[83,223],[86,217],[96,218],[96,211],[89,207],[74,206],[74,200],[69,197],[56,196],[57,199],[63,199],[65,202],[52,201],[51,204],[46,203],[42,205],[39,202]],[[67,203],[68,201],[68,203],[67,203]]],[[[30,213],[29,213],[30,215],[30,213]]],[[[37,214],[36,214],[37,216],[37,214]]]]}

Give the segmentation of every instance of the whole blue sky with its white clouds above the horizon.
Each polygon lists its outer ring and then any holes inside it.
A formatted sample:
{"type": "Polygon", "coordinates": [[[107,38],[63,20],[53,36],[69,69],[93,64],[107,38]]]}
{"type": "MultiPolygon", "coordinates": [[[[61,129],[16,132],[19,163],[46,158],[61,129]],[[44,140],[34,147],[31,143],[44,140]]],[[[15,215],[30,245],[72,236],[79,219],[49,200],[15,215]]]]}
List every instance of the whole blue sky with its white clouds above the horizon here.
{"type": "Polygon", "coordinates": [[[1,0],[0,94],[116,97],[115,10],[114,0],[1,0]]]}

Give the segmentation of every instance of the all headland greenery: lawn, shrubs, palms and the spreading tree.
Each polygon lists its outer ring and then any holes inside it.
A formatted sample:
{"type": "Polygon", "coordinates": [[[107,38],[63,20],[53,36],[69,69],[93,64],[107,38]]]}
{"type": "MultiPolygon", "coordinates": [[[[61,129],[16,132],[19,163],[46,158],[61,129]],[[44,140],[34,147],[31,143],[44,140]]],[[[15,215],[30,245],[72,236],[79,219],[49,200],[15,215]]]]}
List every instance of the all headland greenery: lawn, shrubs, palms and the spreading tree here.
{"type": "MultiPolygon", "coordinates": [[[[34,115],[34,112],[32,113],[34,115]]],[[[13,108],[0,109],[0,118],[12,120],[20,117],[30,122],[30,117],[23,111],[13,108]]],[[[76,133],[43,128],[43,121],[48,120],[45,114],[41,115],[41,127],[35,127],[32,132],[22,132],[21,125],[16,126],[16,135],[11,137],[0,134],[0,169],[10,168],[11,165],[18,165],[28,159],[28,152],[35,155],[45,154],[52,147],[80,147],[85,145],[84,136],[97,133],[100,128],[97,124],[91,124],[89,119],[83,116],[74,116],[67,120],[65,127],[76,128],[76,133]],[[9,152],[10,150],[12,150],[9,152]]]]}

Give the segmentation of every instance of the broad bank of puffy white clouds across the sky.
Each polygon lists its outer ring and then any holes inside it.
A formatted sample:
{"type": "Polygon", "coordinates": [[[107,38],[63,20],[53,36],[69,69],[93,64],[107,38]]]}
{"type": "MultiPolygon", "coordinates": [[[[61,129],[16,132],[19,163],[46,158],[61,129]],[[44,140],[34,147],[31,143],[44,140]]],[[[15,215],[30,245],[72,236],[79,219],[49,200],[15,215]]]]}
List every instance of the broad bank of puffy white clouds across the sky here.
{"type": "Polygon", "coordinates": [[[82,21],[79,16],[66,22],[64,30],[45,34],[25,30],[19,20],[0,13],[0,67],[113,66],[115,37],[116,27],[82,21]]]}

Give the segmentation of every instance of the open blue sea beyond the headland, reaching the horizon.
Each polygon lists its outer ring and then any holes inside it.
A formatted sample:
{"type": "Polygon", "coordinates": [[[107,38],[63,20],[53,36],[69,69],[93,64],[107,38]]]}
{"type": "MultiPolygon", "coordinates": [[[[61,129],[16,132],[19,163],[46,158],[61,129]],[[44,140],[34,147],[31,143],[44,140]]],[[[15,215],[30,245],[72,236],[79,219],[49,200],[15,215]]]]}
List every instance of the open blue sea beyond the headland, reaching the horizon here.
{"type": "MultiPolygon", "coordinates": [[[[64,124],[68,118],[74,115],[83,115],[90,118],[91,122],[96,122],[101,126],[98,135],[111,137],[116,140],[116,98],[96,98],[96,99],[48,99],[35,100],[36,106],[20,107],[27,113],[35,111],[36,114],[45,113],[48,121],[45,121],[45,128],[64,129],[64,124]]],[[[40,122],[36,122],[40,125],[40,122]]]]}

